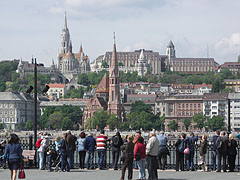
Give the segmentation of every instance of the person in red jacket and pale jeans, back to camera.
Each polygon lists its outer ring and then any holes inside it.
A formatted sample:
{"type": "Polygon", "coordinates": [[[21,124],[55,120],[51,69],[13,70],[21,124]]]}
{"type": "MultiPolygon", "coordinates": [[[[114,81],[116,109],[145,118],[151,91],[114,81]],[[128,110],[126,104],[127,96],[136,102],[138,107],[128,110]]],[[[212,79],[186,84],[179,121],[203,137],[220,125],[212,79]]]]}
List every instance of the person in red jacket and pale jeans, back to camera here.
{"type": "Polygon", "coordinates": [[[134,149],[134,159],[137,162],[139,169],[139,179],[146,179],[145,163],[146,163],[146,145],[143,137],[138,138],[138,143],[134,149]],[[140,159],[137,159],[137,154],[140,154],[140,159]]]}

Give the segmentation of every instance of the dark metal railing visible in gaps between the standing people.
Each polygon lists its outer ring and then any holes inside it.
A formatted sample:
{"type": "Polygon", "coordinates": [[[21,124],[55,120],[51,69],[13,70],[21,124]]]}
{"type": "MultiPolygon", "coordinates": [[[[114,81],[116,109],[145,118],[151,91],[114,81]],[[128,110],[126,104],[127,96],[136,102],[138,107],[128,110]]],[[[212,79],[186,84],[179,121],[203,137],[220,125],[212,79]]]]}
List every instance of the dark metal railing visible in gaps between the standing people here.
{"type": "MultiPolygon", "coordinates": [[[[166,164],[166,169],[175,169],[175,163],[176,163],[176,147],[175,147],[175,142],[174,140],[169,141],[168,143],[168,149],[170,152],[170,156],[167,157],[167,164],[166,164]]],[[[23,149],[34,149],[34,147],[30,147],[29,143],[27,140],[23,140],[20,142],[21,146],[23,149]]],[[[237,146],[237,156],[236,156],[236,169],[240,170],[240,142],[238,141],[238,146],[237,146]]],[[[195,154],[194,154],[194,168],[195,169],[201,169],[201,167],[198,165],[199,161],[200,161],[200,157],[199,157],[199,145],[200,142],[198,141],[198,143],[195,145],[195,154]]],[[[49,148],[54,149],[55,148],[55,144],[54,141],[50,140],[50,145],[49,148]]],[[[206,154],[206,164],[208,169],[212,169],[213,168],[213,162],[212,162],[212,153],[213,153],[213,144],[212,142],[208,143],[207,146],[207,154],[206,154]]],[[[97,167],[97,162],[98,162],[98,157],[97,157],[97,153],[95,151],[94,153],[94,165],[95,167],[97,167]]],[[[111,148],[111,143],[107,144],[107,150],[106,150],[106,156],[105,156],[105,161],[104,161],[104,167],[106,168],[112,168],[112,148],[111,148]]],[[[75,167],[79,167],[79,154],[78,151],[76,150],[74,153],[74,164],[75,167]]],[[[186,163],[185,163],[186,164],[186,163]]],[[[119,167],[121,166],[121,162],[119,160],[119,167]]]]}

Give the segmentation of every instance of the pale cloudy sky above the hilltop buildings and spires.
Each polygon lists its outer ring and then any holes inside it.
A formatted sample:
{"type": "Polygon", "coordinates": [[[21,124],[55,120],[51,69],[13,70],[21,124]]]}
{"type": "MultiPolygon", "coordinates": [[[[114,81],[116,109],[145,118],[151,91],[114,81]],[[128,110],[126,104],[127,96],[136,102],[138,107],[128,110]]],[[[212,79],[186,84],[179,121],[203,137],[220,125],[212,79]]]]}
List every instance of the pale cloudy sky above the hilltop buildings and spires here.
{"type": "Polygon", "coordinates": [[[57,60],[67,12],[73,51],[91,61],[113,46],[177,57],[213,57],[219,64],[240,55],[240,0],[1,0],[0,60],[22,58],[49,66],[57,60]]]}

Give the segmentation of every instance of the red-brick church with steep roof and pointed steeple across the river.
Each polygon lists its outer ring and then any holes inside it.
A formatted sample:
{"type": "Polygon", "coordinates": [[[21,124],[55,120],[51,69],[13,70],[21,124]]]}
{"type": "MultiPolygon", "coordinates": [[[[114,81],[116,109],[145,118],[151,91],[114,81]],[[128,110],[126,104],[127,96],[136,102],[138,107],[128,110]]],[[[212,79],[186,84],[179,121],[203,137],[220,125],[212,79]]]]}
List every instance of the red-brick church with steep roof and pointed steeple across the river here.
{"type": "Polygon", "coordinates": [[[93,117],[98,109],[104,109],[111,114],[116,114],[123,119],[123,106],[120,101],[120,78],[116,43],[113,44],[112,59],[110,63],[109,76],[103,76],[96,88],[95,97],[91,98],[83,112],[82,127],[86,128],[87,119],[93,117]]]}

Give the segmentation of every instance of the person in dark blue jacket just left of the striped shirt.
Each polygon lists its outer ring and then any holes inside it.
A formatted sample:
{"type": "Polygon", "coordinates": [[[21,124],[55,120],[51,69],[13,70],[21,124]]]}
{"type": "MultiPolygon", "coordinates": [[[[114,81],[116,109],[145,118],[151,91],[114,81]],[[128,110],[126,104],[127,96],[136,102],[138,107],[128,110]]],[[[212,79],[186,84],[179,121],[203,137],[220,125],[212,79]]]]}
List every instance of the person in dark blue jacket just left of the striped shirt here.
{"type": "Polygon", "coordinates": [[[93,137],[93,133],[90,133],[90,135],[85,139],[83,144],[86,150],[86,168],[94,169],[93,157],[96,146],[96,140],[93,137]]]}

